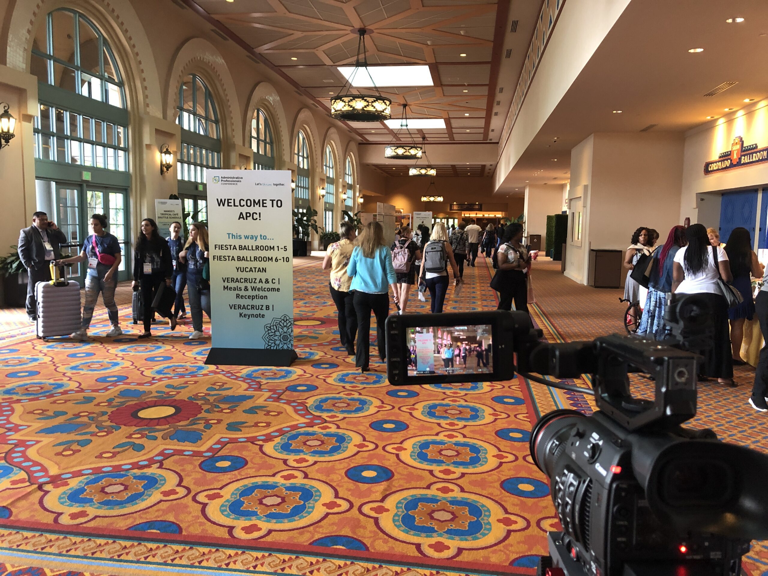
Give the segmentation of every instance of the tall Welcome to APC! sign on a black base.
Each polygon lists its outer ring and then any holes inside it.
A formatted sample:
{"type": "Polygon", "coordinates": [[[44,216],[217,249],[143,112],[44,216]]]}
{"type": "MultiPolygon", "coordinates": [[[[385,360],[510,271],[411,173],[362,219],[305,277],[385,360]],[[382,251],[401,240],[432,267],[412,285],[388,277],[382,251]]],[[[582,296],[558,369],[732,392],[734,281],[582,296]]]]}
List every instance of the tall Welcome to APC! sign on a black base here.
{"type": "Polygon", "coordinates": [[[288,170],[207,170],[211,348],[206,364],[290,366],[288,170]]]}

